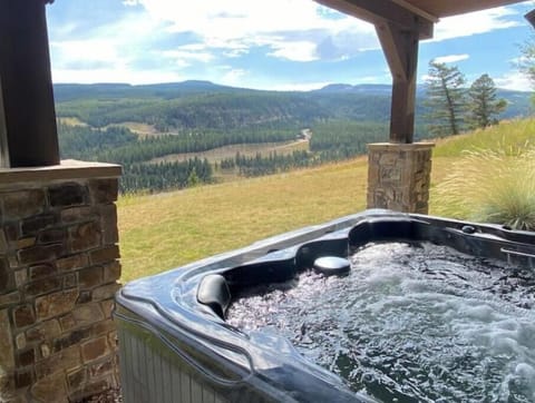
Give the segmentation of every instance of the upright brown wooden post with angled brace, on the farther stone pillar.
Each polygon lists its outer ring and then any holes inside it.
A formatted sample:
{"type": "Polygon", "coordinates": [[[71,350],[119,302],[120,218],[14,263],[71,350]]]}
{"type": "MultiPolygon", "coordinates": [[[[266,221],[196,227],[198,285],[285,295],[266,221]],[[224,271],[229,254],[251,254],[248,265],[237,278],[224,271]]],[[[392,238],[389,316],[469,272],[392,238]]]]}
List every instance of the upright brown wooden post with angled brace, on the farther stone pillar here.
{"type": "Polygon", "coordinates": [[[393,23],[376,26],[382,50],[392,73],[390,142],[414,141],[418,32],[393,23]]]}

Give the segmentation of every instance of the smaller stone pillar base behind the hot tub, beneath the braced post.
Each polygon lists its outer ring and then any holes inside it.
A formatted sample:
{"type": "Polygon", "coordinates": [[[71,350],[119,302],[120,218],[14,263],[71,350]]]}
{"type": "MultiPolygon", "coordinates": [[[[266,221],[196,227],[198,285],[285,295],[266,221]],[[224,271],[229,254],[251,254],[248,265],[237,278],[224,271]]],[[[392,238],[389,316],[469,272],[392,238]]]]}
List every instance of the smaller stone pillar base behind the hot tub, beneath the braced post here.
{"type": "Polygon", "coordinates": [[[427,214],[431,142],[368,145],[368,208],[427,214]]]}

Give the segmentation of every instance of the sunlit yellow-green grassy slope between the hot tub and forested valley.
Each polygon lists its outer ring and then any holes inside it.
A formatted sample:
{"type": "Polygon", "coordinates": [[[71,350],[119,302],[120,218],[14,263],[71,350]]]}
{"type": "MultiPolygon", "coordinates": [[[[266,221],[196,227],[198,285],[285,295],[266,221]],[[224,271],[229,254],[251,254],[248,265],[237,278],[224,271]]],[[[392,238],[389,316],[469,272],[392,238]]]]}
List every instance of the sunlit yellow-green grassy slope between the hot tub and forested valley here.
{"type": "MultiPolygon", "coordinates": [[[[463,149],[535,142],[535,120],[439,140],[432,183],[463,149]]],[[[367,159],[155,196],[119,199],[123,279],[169,269],[366,207],[367,159]]],[[[431,189],[430,213],[440,200],[431,189]]]]}

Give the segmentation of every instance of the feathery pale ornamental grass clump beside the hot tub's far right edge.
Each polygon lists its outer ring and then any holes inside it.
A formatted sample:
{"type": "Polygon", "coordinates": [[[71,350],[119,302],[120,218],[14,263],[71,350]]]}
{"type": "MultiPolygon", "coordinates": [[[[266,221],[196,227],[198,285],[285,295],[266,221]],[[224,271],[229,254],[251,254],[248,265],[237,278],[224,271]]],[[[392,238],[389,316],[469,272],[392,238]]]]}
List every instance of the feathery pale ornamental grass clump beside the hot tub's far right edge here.
{"type": "Polygon", "coordinates": [[[465,151],[432,197],[437,215],[535,230],[535,148],[465,151]]]}

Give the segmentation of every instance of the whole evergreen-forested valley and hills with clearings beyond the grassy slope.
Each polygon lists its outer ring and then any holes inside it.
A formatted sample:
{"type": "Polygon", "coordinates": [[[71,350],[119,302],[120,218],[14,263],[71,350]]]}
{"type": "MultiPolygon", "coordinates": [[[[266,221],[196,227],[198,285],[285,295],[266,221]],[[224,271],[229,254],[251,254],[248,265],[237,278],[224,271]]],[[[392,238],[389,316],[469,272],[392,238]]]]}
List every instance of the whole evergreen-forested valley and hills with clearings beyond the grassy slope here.
{"type": "MultiPolygon", "coordinates": [[[[55,94],[61,158],[120,164],[124,193],[317,166],[363,155],[367,144],[388,140],[389,86],[276,92],[185,81],[57,85],[55,94]],[[139,125],[150,134],[136,130],[139,125]],[[227,151],[246,145],[254,150],[227,151]]],[[[498,96],[507,101],[499,118],[529,114],[528,94],[498,96]]],[[[421,88],[417,139],[428,137],[425,98],[421,88]]]]}

